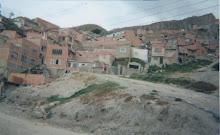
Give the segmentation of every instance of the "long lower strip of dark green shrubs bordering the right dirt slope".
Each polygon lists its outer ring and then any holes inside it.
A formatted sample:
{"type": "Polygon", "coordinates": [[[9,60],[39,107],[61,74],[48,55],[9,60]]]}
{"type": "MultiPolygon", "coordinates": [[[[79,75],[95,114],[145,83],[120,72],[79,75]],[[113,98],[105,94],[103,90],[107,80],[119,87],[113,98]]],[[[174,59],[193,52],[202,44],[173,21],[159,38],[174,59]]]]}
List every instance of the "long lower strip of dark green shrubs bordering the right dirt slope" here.
{"type": "Polygon", "coordinates": [[[183,78],[166,78],[163,75],[158,74],[146,74],[146,75],[138,75],[138,74],[132,74],[130,76],[132,79],[137,80],[144,80],[149,82],[160,82],[160,83],[166,83],[166,84],[176,84],[178,86],[182,86],[187,89],[191,89],[197,92],[203,92],[210,94],[212,91],[215,91],[217,87],[213,84],[203,82],[203,81],[195,81],[195,80],[186,80],[183,78]]]}

